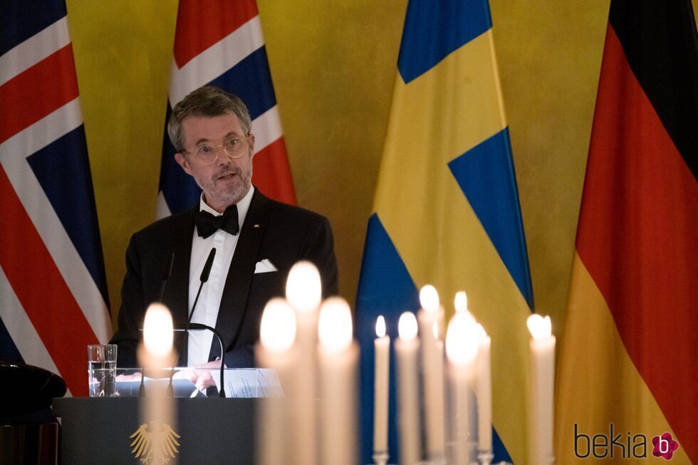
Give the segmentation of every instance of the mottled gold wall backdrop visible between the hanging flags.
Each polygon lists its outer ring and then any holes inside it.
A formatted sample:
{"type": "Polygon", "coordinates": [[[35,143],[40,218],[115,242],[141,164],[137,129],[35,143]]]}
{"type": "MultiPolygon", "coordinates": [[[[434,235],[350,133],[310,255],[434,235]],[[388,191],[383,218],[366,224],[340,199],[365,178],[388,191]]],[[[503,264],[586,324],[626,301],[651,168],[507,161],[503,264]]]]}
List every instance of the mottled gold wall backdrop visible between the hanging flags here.
{"type": "MultiPolygon", "coordinates": [[[[407,0],[258,4],[298,204],[330,219],[353,302],[407,0]]],[[[155,217],[177,0],[67,6],[115,322],[155,217]]],[[[536,308],[561,335],[609,1],[490,6],[536,308]]]]}

